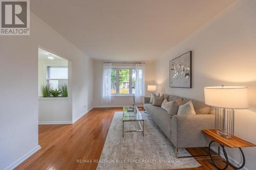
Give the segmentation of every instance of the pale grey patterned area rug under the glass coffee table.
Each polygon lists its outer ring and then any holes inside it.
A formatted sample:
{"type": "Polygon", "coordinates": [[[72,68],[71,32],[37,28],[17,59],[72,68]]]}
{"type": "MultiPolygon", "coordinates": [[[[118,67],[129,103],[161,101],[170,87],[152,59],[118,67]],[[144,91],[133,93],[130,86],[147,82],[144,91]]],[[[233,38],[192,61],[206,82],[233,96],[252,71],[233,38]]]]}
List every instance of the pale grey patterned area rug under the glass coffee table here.
{"type": "MultiPolygon", "coordinates": [[[[175,157],[175,147],[152,121],[150,115],[141,112],[145,121],[142,132],[124,133],[122,137],[122,112],[115,112],[98,160],[97,169],[174,169],[199,167],[194,158],[175,157]]],[[[125,130],[139,128],[138,123],[124,124],[125,130]]],[[[179,149],[179,156],[190,156],[179,149]]]]}

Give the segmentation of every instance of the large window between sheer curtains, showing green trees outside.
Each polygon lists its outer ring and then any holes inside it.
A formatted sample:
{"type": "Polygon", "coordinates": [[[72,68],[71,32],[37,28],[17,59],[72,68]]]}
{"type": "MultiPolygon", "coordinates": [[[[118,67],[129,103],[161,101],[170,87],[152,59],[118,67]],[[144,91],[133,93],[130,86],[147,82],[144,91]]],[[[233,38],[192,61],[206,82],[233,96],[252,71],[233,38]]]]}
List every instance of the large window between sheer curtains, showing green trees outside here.
{"type": "MultiPolygon", "coordinates": [[[[139,74],[142,70],[139,70],[139,74]]],[[[112,68],[111,69],[111,94],[135,94],[136,69],[112,68]]]]}

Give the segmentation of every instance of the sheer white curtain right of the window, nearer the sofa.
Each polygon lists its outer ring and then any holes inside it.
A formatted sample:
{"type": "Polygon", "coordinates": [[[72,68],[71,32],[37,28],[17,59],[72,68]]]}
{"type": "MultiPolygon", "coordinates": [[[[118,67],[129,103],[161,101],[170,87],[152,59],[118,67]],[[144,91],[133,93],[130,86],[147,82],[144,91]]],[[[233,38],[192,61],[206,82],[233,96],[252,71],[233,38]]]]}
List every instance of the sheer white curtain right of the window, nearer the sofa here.
{"type": "Polygon", "coordinates": [[[145,75],[144,64],[136,64],[136,78],[135,78],[135,102],[140,103],[140,97],[145,93],[145,75]]]}

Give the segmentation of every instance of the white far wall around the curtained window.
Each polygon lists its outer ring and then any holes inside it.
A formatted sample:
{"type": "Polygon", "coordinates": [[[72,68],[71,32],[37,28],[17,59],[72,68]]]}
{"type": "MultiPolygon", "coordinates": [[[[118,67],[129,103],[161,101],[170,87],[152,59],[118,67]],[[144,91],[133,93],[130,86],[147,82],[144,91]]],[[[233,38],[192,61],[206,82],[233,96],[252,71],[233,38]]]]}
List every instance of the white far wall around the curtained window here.
{"type": "MultiPolygon", "coordinates": [[[[102,84],[102,69],[103,60],[94,60],[94,107],[122,107],[133,104],[132,96],[111,96],[111,104],[101,104],[101,84],[102,84]]],[[[147,91],[147,85],[155,85],[155,62],[145,62],[145,95],[150,95],[147,91]]],[[[139,106],[143,105],[141,98],[139,106]]]]}

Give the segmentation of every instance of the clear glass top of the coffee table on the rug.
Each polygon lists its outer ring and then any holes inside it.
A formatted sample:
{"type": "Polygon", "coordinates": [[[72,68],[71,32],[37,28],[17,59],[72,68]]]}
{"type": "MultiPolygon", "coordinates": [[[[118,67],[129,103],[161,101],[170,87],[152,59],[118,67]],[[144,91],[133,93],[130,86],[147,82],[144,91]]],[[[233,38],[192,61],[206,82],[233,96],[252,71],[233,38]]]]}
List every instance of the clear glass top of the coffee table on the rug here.
{"type": "Polygon", "coordinates": [[[136,111],[129,111],[130,109],[131,109],[131,107],[129,107],[129,106],[123,107],[123,121],[124,122],[143,120],[143,117],[142,117],[137,106],[135,106],[136,111]]]}

